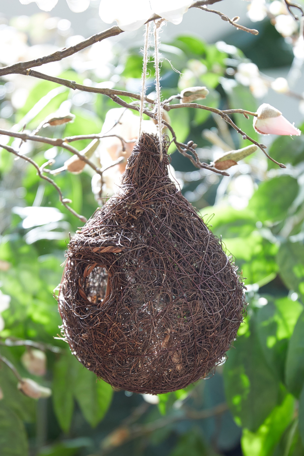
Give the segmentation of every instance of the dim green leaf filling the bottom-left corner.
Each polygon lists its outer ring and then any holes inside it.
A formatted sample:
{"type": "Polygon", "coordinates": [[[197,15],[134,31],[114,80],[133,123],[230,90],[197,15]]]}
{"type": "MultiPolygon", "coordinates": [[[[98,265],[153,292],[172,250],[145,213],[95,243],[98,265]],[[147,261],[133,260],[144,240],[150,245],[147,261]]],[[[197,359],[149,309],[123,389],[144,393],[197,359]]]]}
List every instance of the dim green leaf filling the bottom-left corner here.
{"type": "Polygon", "coordinates": [[[20,418],[5,404],[0,404],[0,454],[28,455],[26,430],[20,418]]]}

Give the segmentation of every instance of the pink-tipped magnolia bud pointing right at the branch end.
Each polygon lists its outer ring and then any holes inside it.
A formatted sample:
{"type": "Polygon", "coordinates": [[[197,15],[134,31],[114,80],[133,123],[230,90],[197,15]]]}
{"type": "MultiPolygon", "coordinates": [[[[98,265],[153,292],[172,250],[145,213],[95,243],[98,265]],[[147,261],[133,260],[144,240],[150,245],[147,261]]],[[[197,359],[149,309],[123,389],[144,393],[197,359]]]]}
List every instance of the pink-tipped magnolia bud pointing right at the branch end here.
{"type": "Polygon", "coordinates": [[[257,114],[258,117],[253,119],[253,128],[262,135],[301,135],[301,131],[270,104],[261,104],[257,114]]]}

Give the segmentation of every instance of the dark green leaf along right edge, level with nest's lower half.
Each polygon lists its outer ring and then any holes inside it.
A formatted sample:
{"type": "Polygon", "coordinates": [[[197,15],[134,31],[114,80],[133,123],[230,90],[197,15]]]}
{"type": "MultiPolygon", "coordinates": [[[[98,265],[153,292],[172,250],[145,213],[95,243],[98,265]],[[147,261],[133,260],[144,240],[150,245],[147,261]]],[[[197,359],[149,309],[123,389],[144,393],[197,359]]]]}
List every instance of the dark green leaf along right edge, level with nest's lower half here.
{"type": "Polygon", "coordinates": [[[289,391],[299,397],[304,384],[304,311],[294,327],[286,359],[285,379],[289,391]]]}

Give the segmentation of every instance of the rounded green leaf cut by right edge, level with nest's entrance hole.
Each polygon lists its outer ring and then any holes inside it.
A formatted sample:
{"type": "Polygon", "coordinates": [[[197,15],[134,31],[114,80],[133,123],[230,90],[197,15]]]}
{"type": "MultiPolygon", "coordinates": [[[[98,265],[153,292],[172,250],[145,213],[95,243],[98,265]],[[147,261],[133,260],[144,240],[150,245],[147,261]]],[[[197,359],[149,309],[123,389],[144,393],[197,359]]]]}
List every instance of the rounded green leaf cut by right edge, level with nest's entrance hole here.
{"type": "Polygon", "coordinates": [[[300,242],[281,244],[277,262],[284,284],[289,290],[304,295],[304,245],[300,242]]]}

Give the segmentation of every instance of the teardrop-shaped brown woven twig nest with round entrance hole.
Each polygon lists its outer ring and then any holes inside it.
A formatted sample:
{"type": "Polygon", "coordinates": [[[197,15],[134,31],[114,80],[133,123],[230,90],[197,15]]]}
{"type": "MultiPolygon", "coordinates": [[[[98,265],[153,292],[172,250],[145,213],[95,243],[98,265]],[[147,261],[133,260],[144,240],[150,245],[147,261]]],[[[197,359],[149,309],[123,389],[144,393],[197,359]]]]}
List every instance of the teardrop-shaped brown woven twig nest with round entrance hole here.
{"type": "Polygon", "coordinates": [[[158,138],[141,135],[119,191],[71,239],[59,294],[78,360],[136,393],[206,376],[244,310],[234,264],[170,181],[168,162],[158,138]]]}

